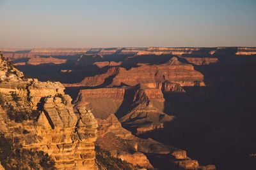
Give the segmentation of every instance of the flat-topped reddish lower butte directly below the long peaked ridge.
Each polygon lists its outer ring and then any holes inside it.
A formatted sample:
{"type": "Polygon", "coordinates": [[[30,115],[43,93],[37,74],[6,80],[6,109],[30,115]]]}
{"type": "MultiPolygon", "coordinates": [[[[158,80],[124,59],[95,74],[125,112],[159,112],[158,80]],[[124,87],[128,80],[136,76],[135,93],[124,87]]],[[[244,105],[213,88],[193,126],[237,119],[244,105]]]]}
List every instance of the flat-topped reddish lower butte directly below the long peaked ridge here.
{"type": "Polygon", "coordinates": [[[83,89],[74,104],[92,109],[96,118],[108,118],[115,113],[122,124],[138,134],[163,128],[164,123],[174,118],[163,113],[161,87],[83,89]]]}

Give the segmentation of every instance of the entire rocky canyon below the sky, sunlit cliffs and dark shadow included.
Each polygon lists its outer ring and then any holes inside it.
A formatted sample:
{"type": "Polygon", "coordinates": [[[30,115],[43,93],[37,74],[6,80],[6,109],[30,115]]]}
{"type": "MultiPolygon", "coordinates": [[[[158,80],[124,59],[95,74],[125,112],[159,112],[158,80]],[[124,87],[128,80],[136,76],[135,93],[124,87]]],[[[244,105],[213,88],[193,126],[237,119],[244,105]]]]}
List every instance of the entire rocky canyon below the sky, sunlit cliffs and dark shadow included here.
{"type": "MultiPolygon", "coordinates": [[[[5,80],[6,70],[0,74],[1,93],[10,97],[9,89],[22,89],[11,91],[29,98],[30,110],[42,108],[36,126],[20,127],[49,136],[29,142],[49,153],[56,167],[95,168],[95,141],[114,157],[147,169],[255,169],[255,157],[248,155],[256,152],[256,48],[0,50],[32,77],[15,87],[5,80]],[[70,159],[76,154],[85,155],[70,159]]],[[[8,78],[19,79],[12,74],[8,78]]],[[[24,148],[34,147],[23,143],[24,148]]]]}

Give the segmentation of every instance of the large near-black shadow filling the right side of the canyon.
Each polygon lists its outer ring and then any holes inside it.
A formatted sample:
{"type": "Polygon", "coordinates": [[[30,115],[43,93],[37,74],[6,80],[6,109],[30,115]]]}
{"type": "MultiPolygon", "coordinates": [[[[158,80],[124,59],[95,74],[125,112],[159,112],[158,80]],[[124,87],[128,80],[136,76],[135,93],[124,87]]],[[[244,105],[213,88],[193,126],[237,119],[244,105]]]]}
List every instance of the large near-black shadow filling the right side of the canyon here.
{"type": "Polygon", "coordinates": [[[217,169],[256,169],[256,56],[221,56],[220,62],[196,66],[206,87],[186,87],[186,94],[164,94],[164,113],[177,118],[153,138],[188,152],[200,164],[217,169]]]}

